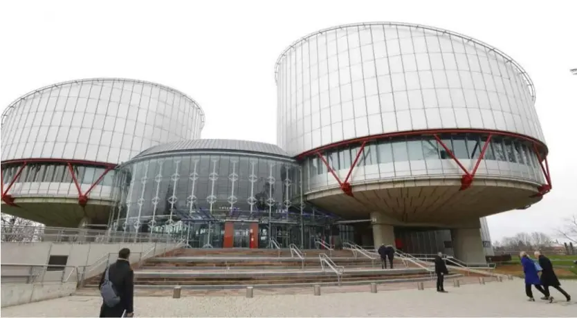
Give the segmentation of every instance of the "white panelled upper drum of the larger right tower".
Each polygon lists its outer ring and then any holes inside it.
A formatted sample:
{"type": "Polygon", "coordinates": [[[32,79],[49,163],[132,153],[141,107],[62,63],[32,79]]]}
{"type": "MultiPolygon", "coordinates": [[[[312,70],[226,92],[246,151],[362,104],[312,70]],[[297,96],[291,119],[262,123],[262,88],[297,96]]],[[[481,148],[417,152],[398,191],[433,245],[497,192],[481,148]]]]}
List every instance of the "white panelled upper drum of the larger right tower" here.
{"type": "Polygon", "coordinates": [[[420,26],[342,26],[277,64],[277,144],[295,156],[396,131],[491,129],[544,142],[529,77],[509,57],[420,26]]]}

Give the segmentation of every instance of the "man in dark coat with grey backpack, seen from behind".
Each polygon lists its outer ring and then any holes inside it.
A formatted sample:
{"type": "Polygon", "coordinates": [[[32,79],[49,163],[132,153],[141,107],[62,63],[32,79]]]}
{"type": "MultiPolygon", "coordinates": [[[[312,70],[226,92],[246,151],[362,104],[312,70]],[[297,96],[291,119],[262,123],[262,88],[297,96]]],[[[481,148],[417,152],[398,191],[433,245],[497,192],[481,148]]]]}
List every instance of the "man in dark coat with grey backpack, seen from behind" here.
{"type": "Polygon", "coordinates": [[[129,257],[129,249],[120,250],[116,263],[111,264],[100,278],[100,317],[134,316],[134,271],[130,267],[129,257]]]}

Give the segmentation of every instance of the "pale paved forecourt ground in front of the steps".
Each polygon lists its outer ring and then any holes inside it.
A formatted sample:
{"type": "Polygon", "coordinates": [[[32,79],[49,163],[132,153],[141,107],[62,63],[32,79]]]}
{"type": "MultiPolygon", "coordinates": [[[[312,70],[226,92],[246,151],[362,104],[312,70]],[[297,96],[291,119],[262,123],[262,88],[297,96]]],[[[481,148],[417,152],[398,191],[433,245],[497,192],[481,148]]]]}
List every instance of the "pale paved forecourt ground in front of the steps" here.
{"type": "MultiPolygon", "coordinates": [[[[569,294],[577,297],[577,281],[563,281],[569,294]]],[[[466,284],[450,288],[448,294],[433,289],[383,290],[325,293],[312,295],[312,288],[295,294],[266,294],[255,290],[255,297],[138,296],[137,317],[575,317],[577,302],[565,302],[552,289],[556,301],[529,303],[520,279],[486,285],[466,284]]],[[[535,296],[540,294],[535,290],[535,296]]],[[[96,296],[73,296],[50,301],[2,308],[2,317],[95,317],[101,300],[96,296]]]]}

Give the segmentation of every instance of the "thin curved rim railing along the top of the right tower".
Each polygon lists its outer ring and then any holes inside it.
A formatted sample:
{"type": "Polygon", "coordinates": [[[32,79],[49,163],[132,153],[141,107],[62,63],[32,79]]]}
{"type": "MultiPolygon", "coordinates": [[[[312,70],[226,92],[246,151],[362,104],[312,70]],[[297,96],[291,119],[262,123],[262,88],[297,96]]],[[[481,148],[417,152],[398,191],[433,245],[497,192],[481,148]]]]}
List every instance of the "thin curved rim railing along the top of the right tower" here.
{"type": "Polygon", "coordinates": [[[442,32],[442,33],[446,33],[448,35],[454,35],[455,37],[461,37],[462,39],[466,39],[467,41],[471,41],[475,44],[479,44],[480,46],[484,46],[485,48],[488,48],[489,50],[494,51],[498,55],[501,55],[501,57],[503,57],[506,60],[506,62],[513,64],[513,66],[515,66],[515,68],[518,69],[519,73],[525,79],[526,85],[529,86],[529,93],[531,94],[531,100],[533,100],[533,102],[535,102],[535,85],[533,85],[533,81],[531,80],[531,77],[529,77],[529,74],[524,70],[524,68],[522,66],[520,66],[520,64],[515,62],[515,60],[512,57],[510,57],[509,55],[506,55],[504,52],[502,52],[502,50],[499,50],[498,48],[495,48],[494,46],[490,46],[489,44],[486,44],[484,41],[480,41],[480,40],[475,39],[473,37],[468,37],[467,35],[462,35],[462,34],[457,33],[457,32],[453,32],[450,30],[442,29],[442,28],[435,28],[434,26],[425,26],[423,24],[407,24],[404,22],[364,22],[364,23],[356,23],[356,24],[342,24],[340,26],[332,26],[330,28],[324,28],[322,30],[312,32],[309,35],[305,35],[304,37],[301,37],[300,39],[293,41],[293,43],[290,46],[288,46],[287,48],[285,48],[282,51],[282,53],[279,55],[279,57],[277,58],[277,62],[275,63],[275,82],[277,81],[278,67],[280,65],[280,61],[281,61],[282,57],[284,57],[284,55],[286,55],[286,53],[289,52],[289,50],[291,50],[291,48],[293,48],[295,45],[299,44],[300,42],[302,42],[306,39],[309,39],[309,37],[313,37],[315,35],[322,34],[324,32],[329,32],[332,30],[337,30],[337,29],[342,29],[342,28],[351,28],[351,27],[355,27],[355,26],[404,26],[407,28],[422,28],[424,30],[442,32]]]}

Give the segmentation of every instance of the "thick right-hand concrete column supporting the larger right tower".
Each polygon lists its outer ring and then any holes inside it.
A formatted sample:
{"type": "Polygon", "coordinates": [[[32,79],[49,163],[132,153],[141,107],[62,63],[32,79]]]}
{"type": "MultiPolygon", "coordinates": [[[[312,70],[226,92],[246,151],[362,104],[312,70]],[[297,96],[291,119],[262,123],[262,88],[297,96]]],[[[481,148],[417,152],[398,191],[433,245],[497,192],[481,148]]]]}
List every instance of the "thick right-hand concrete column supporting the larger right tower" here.
{"type": "Polygon", "coordinates": [[[479,227],[451,230],[451,236],[456,259],[465,263],[486,263],[479,227]]]}

